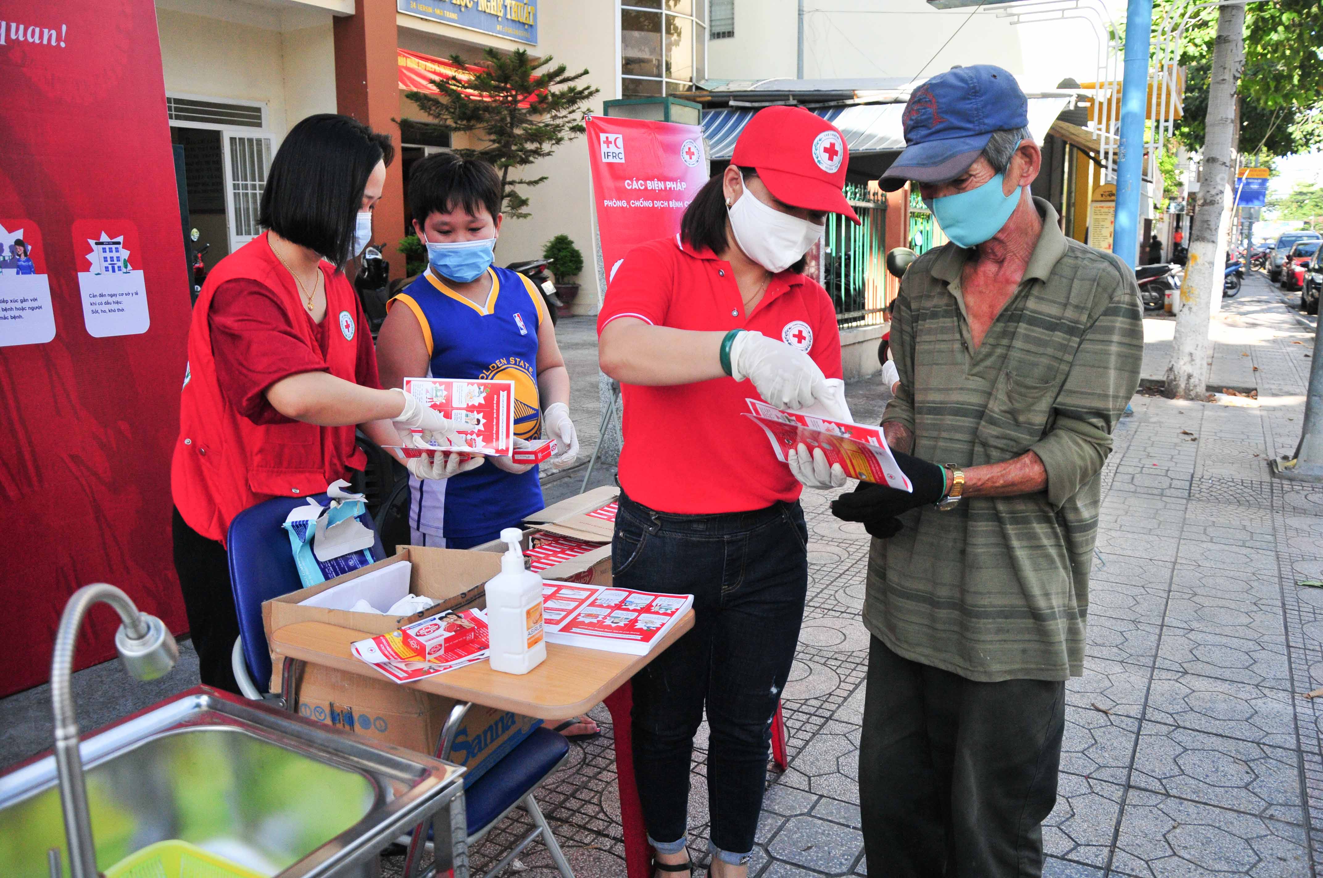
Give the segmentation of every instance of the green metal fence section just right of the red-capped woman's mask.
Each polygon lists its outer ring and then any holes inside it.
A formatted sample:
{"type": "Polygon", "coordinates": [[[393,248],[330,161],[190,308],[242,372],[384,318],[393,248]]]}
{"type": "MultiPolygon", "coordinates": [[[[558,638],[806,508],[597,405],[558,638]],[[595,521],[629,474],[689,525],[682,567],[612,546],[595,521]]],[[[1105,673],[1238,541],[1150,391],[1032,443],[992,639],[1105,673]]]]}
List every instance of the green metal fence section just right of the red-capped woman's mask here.
{"type": "Polygon", "coordinates": [[[836,323],[857,327],[882,323],[886,304],[886,202],[867,185],[845,184],[861,225],[827,214],[823,231],[822,283],[836,305],[836,323]]]}

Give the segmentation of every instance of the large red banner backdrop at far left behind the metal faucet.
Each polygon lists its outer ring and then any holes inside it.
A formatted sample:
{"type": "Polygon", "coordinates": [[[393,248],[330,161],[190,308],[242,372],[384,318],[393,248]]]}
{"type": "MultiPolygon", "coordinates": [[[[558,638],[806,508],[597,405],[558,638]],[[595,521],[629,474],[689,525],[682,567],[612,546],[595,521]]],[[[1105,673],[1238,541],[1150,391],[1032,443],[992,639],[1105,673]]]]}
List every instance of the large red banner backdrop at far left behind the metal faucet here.
{"type": "MultiPolygon", "coordinates": [[[[69,595],[187,628],[169,455],[188,276],[152,0],[0,0],[0,696],[46,680],[69,595]]],[[[85,666],[114,655],[93,611],[85,666]]]]}

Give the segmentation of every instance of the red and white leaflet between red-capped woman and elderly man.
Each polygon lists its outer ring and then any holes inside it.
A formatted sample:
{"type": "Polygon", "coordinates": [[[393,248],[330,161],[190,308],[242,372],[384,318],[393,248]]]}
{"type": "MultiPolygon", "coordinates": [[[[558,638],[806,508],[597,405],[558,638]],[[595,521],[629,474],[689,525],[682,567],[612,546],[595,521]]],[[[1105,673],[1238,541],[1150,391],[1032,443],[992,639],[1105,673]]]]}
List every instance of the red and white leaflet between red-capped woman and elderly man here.
{"type": "Polygon", "coordinates": [[[822,448],[827,463],[839,463],[851,479],[889,485],[900,491],[914,491],[914,485],[892,456],[881,427],[786,411],[769,406],[762,399],[745,399],[745,402],[753,413],[746,413],[745,417],[753,418],[763,428],[778,460],[785,463],[789,450],[804,444],[810,451],[822,448]]]}

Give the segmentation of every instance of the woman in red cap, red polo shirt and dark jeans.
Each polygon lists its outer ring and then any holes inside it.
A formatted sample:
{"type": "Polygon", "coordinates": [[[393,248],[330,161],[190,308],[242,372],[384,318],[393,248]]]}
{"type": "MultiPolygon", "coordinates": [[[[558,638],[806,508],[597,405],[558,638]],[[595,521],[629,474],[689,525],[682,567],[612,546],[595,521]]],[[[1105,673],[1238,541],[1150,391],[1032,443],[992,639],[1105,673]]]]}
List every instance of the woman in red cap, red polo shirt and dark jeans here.
{"type": "Polygon", "coordinates": [[[761,397],[844,415],[828,383],[841,374],[835,308],[799,272],[826,213],[859,222],[841,194],[847,160],[824,119],[762,110],[680,234],[624,259],[598,317],[602,370],[620,381],[624,411],[615,583],[695,595],[693,631],[634,678],[634,762],[659,874],[689,870],[704,706],[712,874],[747,871],[808,584],[796,477],[828,487],[844,475],[822,452],[792,472],[742,413],[761,397]]]}

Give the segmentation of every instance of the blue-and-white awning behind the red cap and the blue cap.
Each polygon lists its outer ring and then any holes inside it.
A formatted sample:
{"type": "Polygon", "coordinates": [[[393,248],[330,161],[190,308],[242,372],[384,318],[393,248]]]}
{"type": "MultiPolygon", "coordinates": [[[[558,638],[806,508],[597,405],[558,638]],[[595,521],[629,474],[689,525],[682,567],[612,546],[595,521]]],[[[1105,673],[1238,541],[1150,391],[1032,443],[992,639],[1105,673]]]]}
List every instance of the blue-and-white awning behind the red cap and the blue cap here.
{"type": "MultiPolygon", "coordinates": [[[[1029,98],[1029,131],[1033,139],[1043,143],[1048,128],[1065,108],[1070,97],[1053,95],[1029,98]]],[[[761,107],[759,107],[761,108],[761,107]]],[[[808,107],[812,110],[812,107],[808,107]]],[[[729,160],[734,153],[740,132],[758,110],[725,108],[703,111],[703,136],[708,143],[708,155],[716,160],[729,160]]],[[[901,116],[904,103],[868,103],[853,107],[828,107],[812,110],[827,122],[840,128],[849,147],[851,157],[898,152],[905,148],[905,132],[901,116]]]]}

